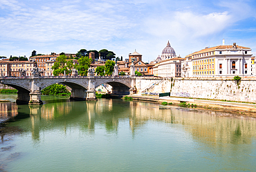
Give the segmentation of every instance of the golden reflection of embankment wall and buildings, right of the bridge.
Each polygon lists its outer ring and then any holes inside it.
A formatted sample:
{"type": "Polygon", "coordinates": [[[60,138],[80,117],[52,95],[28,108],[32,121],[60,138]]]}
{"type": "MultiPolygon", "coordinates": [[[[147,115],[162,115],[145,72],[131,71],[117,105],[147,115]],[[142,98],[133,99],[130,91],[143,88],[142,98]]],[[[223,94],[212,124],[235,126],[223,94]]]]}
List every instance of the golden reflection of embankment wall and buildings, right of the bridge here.
{"type": "Polygon", "coordinates": [[[163,121],[170,124],[182,124],[185,131],[192,134],[195,140],[208,143],[250,144],[256,136],[256,120],[243,117],[219,117],[223,113],[214,111],[181,111],[176,107],[158,108],[145,102],[131,102],[130,128],[135,131],[147,121],[163,121]],[[254,128],[254,129],[252,129],[254,128]]]}

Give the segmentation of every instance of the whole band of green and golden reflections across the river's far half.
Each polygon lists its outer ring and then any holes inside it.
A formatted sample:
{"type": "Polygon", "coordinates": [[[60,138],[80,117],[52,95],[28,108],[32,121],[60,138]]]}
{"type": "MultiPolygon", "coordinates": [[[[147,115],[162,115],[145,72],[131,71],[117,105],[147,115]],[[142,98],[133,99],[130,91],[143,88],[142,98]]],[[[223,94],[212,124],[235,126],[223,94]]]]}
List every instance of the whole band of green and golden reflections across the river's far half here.
{"type": "MultiPolygon", "coordinates": [[[[133,135],[147,122],[164,122],[170,127],[183,125],[194,140],[203,140],[216,146],[219,142],[251,144],[252,138],[256,136],[254,118],[224,117],[222,113],[214,111],[185,111],[183,108],[168,108],[147,102],[100,99],[98,102],[66,101],[26,108],[29,109],[33,139],[37,141],[40,131],[53,128],[65,133],[66,128],[79,126],[81,131],[93,135],[96,124],[104,126],[107,133],[117,134],[120,121],[124,120],[129,120],[133,135]]],[[[19,108],[19,115],[28,111],[26,108],[19,108]]],[[[17,114],[16,106],[4,105],[1,109],[5,115],[17,114]]],[[[24,128],[28,128],[28,124],[25,124],[24,128]]]]}

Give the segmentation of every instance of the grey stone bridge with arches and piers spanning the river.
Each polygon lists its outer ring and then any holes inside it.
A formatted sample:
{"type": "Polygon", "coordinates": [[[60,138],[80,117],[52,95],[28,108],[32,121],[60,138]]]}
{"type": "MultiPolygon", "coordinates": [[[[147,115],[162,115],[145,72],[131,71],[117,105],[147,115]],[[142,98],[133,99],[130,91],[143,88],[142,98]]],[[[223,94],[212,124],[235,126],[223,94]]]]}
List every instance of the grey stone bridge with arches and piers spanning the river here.
{"type": "Polygon", "coordinates": [[[113,94],[132,94],[135,77],[2,77],[0,82],[18,90],[17,103],[42,104],[40,90],[52,84],[71,87],[71,99],[95,100],[95,88],[101,84],[111,85],[113,94]]]}

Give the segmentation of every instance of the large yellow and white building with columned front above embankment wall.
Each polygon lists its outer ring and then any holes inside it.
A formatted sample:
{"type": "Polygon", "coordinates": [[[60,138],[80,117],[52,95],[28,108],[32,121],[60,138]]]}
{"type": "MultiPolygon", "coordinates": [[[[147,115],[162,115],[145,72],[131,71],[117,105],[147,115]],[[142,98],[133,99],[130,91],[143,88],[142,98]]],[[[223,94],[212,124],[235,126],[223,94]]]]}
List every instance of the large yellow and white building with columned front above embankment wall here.
{"type": "Polygon", "coordinates": [[[243,46],[215,46],[191,54],[192,77],[251,76],[251,49],[243,46]]]}

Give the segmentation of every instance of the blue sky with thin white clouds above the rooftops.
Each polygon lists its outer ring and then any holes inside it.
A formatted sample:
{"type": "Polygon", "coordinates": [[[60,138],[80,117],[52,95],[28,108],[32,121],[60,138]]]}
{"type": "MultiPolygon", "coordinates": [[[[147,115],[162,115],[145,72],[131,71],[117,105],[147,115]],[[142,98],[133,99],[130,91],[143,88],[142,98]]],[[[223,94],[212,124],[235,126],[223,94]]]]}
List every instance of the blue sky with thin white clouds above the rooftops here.
{"type": "Polygon", "coordinates": [[[167,41],[185,57],[222,39],[256,55],[255,8],[253,0],[0,0],[0,56],[105,48],[148,62],[167,41]]]}

